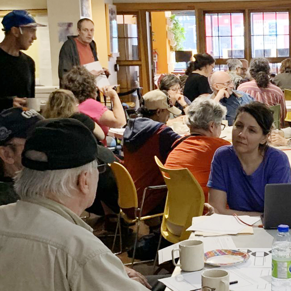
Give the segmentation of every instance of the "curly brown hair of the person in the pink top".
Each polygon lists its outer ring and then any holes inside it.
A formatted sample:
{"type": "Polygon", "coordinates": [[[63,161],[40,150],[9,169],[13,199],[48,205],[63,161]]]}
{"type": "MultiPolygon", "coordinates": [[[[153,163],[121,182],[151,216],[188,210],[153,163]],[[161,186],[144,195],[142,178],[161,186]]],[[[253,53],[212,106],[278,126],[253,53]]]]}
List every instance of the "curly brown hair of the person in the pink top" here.
{"type": "Polygon", "coordinates": [[[74,66],[64,77],[64,89],[73,92],[79,103],[96,98],[95,77],[84,67],[74,66]]]}

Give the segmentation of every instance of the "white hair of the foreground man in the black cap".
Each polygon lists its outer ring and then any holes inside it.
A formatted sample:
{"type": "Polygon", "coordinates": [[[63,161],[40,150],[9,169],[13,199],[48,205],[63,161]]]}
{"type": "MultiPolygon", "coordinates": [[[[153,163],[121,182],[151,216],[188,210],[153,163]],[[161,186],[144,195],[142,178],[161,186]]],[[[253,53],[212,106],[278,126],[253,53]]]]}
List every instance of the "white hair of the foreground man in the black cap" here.
{"type": "Polygon", "coordinates": [[[93,161],[72,169],[47,171],[24,167],[16,174],[14,189],[22,199],[47,197],[62,201],[72,197],[72,192],[77,190],[79,175],[82,172],[92,173],[97,165],[97,161],[93,161]]]}

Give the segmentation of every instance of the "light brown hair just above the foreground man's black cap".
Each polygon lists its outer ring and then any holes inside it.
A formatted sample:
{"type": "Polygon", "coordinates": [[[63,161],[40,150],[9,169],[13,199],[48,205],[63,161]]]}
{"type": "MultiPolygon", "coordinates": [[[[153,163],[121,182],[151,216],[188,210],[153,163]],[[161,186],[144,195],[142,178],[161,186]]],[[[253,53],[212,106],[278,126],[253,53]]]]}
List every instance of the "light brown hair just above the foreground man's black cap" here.
{"type": "Polygon", "coordinates": [[[71,91],[58,89],[50,93],[43,116],[45,118],[69,118],[77,112],[78,103],[71,91]]]}

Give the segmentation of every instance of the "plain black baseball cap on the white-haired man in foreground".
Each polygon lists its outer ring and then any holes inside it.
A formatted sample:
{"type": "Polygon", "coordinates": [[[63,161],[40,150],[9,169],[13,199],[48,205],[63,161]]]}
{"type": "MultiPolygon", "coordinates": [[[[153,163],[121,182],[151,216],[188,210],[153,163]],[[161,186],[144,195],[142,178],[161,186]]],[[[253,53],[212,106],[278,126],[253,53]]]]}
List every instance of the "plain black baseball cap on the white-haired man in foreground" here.
{"type": "Polygon", "coordinates": [[[22,152],[22,165],[38,171],[71,169],[98,159],[114,162],[112,155],[97,146],[93,133],[79,120],[51,118],[35,125],[22,152]],[[27,153],[32,150],[46,154],[47,161],[29,158],[27,153]]]}

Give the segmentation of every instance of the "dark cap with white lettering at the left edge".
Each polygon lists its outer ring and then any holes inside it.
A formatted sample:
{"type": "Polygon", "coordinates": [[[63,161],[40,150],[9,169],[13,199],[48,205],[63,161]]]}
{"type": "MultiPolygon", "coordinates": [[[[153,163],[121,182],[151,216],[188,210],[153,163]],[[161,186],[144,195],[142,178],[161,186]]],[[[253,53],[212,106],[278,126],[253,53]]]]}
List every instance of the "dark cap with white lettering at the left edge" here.
{"type": "Polygon", "coordinates": [[[42,119],[44,117],[33,109],[14,107],[3,110],[0,113],[0,146],[14,137],[27,138],[33,126],[42,119]]]}

